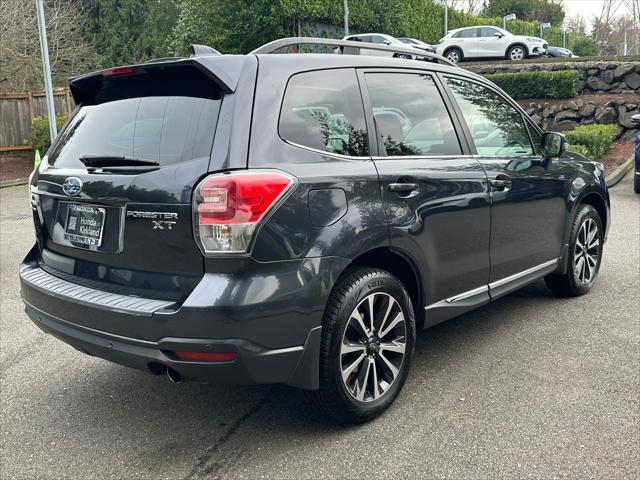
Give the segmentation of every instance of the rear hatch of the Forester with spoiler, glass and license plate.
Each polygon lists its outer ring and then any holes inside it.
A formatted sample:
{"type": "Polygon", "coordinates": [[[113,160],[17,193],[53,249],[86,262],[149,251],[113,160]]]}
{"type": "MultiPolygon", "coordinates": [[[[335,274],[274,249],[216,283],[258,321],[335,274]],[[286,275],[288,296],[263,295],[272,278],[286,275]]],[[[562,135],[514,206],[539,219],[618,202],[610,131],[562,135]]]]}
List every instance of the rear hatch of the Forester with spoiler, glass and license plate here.
{"type": "Polygon", "coordinates": [[[71,88],[78,107],[31,183],[43,268],[184,298],[204,271],[191,196],[210,169],[228,85],[187,60],[106,70],[71,88]]]}

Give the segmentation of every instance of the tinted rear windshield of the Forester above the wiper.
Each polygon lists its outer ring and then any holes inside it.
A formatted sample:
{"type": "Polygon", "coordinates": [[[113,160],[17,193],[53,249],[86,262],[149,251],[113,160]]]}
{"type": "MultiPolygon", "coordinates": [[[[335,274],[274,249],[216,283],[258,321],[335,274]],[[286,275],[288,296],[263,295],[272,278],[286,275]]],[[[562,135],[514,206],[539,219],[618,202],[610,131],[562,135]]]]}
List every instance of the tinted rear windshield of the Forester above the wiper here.
{"type": "Polygon", "coordinates": [[[161,166],[211,153],[220,99],[145,96],[80,106],[49,152],[49,164],[82,167],[84,155],[161,166]]]}

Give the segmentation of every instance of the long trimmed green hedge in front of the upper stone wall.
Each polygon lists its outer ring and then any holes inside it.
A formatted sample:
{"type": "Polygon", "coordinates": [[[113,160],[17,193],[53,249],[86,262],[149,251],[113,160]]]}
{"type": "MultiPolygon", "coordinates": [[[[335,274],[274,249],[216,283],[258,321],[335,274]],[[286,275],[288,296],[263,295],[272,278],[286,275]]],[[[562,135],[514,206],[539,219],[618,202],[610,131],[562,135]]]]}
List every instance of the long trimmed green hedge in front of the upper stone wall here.
{"type": "Polygon", "coordinates": [[[522,98],[570,98],[578,94],[576,70],[495,73],[488,80],[518,100],[522,98]]]}

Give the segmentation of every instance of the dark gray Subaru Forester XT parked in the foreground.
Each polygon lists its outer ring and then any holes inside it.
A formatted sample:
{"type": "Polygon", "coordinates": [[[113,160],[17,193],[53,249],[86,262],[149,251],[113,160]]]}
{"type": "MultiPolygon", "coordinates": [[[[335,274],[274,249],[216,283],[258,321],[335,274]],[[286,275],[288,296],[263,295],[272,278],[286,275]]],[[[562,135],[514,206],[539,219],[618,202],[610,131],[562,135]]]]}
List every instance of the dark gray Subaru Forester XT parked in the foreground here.
{"type": "Polygon", "coordinates": [[[541,277],[592,287],[601,165],[435,54],[273,54],[312,41],[70,82],[30,184],[36,325],[174,381],[294,385],[361,422],[401,390],[416,330],[541,277]]]}

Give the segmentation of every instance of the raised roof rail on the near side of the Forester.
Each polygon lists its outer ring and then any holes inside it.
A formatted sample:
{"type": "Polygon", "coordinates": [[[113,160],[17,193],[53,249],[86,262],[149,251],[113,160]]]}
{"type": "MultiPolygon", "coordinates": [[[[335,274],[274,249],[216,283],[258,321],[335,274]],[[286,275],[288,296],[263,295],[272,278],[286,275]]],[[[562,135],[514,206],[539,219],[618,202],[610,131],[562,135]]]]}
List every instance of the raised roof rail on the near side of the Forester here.
{"type": "Polygon", "coordinates": [[[360,41],[352,41],[352,40],[336,40],[333,38],[315,38],[315,37],[280,38],[278,40],[274,40],[273,42],[266,43],[261,47],[256,48],[251,53],[252,54],[297,53],[297,52],[292,52],[290,47],[295,47],[299,45],[325,45],[328,47],[340,47],[340,53],[342,54],[348,53],[353,55],[362,55],[361,53],[362,49],[379,50],[382,52],[396,53],[398,54],[398,56],[411,55],[411,58],[415,57],[415,59],[425,59],[432,62],[442,63],[444,65],[450,65],[453,67],[457,66],[455,63],[447,60],[442,55],[438,55],[437,53],[432,53],[432,52],[425,52],[423,50],[418,50],[413,47],[381,45],[379,43],[368,43],[368,42],[360,42],[360,41]],[[347,49],[348,50],[353,49],[354,51],[345,52],[347,49]]]}

